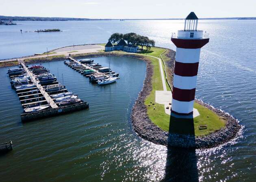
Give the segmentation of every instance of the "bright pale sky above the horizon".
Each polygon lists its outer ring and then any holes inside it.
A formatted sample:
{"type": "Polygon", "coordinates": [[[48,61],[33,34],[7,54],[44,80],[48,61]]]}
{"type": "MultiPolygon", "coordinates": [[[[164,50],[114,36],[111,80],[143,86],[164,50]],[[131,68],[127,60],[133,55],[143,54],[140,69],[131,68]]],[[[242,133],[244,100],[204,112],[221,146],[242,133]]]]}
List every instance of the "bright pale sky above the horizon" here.
{"type": "Polygon", "coordinates": [[[0,0],[0,15],[97,19],[256,17],[256,0],[0,0]]]}

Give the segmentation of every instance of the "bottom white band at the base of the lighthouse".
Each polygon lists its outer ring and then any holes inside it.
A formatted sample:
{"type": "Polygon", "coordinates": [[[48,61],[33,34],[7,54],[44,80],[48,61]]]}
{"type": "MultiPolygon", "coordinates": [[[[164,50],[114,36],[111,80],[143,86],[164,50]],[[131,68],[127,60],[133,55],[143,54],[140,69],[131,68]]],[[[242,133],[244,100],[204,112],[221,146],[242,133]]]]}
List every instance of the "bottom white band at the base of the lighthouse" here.
{"type": "Polygon", "coordinates": [[[171,100],[171,110],[178,112],[178,113],[184,113],[188,114],[193,111],[193,105],[194,101],[190,102],[181,102],[175,99],[171,100]]]}

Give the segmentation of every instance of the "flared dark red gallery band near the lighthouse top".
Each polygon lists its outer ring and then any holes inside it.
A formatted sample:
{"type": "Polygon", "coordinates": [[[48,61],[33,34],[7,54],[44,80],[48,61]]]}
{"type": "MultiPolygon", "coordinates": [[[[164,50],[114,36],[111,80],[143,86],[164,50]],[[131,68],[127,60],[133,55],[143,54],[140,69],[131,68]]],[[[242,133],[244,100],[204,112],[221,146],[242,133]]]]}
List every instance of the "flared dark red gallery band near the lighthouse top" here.
{"type": "Polygon", "coordinates": [[[184,49],[198,49],[202,48],[205,44],[209,42],[209,38],[203,39],[181,39],[181,38],[171,38],[171,41],[176,45],[176,47],[184,49]]]}

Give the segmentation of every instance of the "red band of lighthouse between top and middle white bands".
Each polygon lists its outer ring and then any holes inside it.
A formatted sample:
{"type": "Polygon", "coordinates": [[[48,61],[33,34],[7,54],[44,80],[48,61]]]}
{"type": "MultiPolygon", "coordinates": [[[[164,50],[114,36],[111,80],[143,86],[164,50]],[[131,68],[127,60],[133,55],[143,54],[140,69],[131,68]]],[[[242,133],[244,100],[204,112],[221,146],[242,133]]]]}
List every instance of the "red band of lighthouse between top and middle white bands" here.
{"type": "Polygon", "coordinates": [[[174,73],[179,76],[196,76],[198,71],[197,63],[180,63],[175,61],[174,73]]]}

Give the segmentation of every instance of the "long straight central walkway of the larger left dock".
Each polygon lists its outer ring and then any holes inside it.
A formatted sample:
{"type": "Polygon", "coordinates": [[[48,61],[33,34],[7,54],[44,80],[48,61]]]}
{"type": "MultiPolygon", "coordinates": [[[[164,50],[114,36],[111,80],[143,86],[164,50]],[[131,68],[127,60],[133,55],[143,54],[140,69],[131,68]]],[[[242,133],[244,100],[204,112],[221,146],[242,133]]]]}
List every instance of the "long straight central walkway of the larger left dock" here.
{"type": "MultiPolygon", "coordinates": [[[[59,106],[57,106],[57,104],[55,104],[55,102],[52,100],[52,98],[50,97],[50,95],[44,90],[44,88],[39,84],[39,80],[37,80],[35,78],[35,76],[33,75],[32,72],[30,72],[30,70],[28,70],[28,68],[26,67],[26,64],[23,61],[20,61],[20,64],[22,65],[22,67],[25,69],[25,71],[27,72],[27,74],[31,77],[32,82],[36,85],[37,89],[40,90],[40,92],[42,93],[43,97],[45,97],[46,101],[48,102],[49,106],[51,106],[52,108],[58,108],[59,106]]],[[[31,104],[31,103],[30,103],[31,104]]]]}

